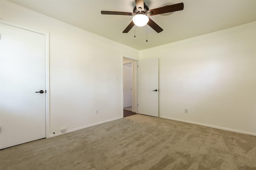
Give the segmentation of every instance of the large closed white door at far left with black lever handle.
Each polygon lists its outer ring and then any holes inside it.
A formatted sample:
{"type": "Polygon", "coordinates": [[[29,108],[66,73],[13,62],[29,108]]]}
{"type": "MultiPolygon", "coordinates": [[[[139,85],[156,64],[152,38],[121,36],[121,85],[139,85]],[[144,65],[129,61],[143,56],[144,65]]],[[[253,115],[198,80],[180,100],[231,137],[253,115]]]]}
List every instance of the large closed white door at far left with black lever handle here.
{"type": "Polygon", "coordinates": [[[46,137],[45,35],[1,23],[0,149],[46,137]]]}

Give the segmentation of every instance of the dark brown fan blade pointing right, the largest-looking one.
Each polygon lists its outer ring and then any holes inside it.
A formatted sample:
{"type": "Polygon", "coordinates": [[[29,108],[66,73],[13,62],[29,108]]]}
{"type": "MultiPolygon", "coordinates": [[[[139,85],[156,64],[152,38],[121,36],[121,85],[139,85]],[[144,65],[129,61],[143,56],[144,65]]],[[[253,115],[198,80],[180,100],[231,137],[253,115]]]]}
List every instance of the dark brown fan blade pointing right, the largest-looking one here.
{"type": "Polygon", "coordinates": [[[184,9],[184,4],[179,3],[179,4],[173,4],[173,5],[168,5],[168,6],[163,6],[160,8],[155,8],[153,10],[149,10],[148,14],[150,16],[157,15],[157,14],[164,14],[167,12],[174,12],[174,11],[180,11],[184,9]]]}

